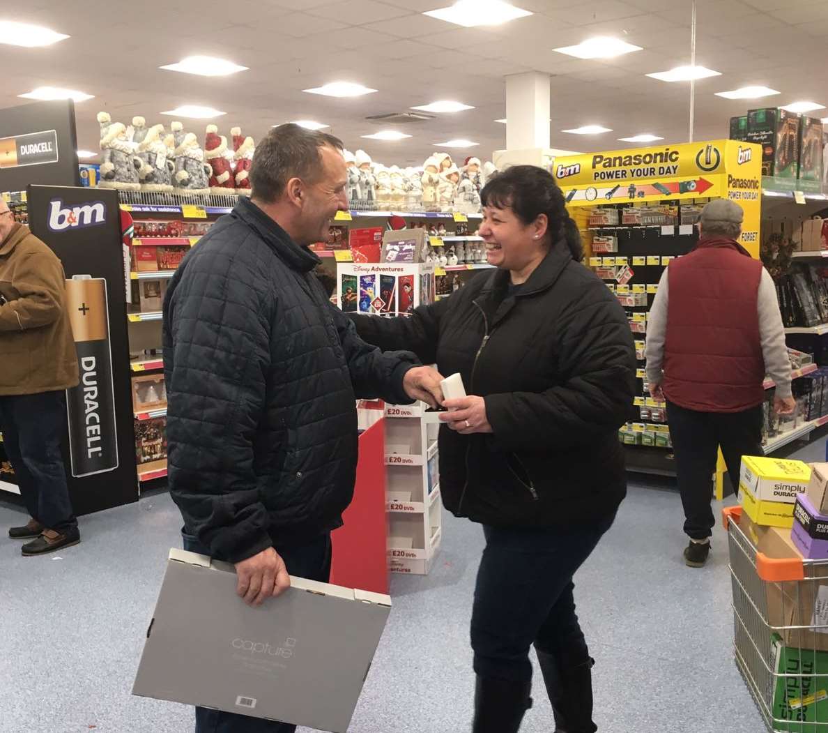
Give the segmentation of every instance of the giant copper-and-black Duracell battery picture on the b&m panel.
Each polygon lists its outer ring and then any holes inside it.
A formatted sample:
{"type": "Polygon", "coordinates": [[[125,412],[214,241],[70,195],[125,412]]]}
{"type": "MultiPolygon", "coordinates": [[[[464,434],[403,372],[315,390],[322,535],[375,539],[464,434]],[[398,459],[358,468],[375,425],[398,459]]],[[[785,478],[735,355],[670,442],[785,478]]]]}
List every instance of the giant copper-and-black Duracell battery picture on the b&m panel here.
{"type": "Polygon", "coordinates": [[[66,308],[80,373],[78,386],[66,390],[72,475],[79,478],[118,468],[106,280],[89,275],[67,280],[66,308]]]}

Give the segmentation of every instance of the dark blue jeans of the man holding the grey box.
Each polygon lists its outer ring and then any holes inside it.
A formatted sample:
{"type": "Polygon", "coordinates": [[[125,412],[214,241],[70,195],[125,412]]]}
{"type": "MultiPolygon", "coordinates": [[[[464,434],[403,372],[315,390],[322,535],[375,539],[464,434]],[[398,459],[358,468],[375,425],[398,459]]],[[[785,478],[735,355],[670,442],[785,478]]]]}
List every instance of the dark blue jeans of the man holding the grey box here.
{"type": "MultiPolygon", "coordinates": [[[[209,550],[194,535],[181,531],[184,549],[209,555],[209,550]]],[[[330,578],[330,533],[309,539],[306,543],[289,546],[275,545],[276,552],[285,561],[287,571],[311,581],[328,582],[330,578]]],[[[218,558],[221,559],[221,558],[218,558]]],[[[262,718],[238,715],[233,712],[195,708],[195,733],[294,733],[296,726],[265,721],[262,718]]]]}

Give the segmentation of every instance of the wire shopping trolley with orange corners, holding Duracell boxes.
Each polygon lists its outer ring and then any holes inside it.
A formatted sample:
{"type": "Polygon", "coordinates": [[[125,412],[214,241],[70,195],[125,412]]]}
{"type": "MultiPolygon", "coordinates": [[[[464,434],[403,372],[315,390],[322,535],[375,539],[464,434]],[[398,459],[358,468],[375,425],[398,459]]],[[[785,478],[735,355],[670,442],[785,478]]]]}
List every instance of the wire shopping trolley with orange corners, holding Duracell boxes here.
{"type": "Polygon", "coordinates": [[[734,655],[759,713],[768,731],[828,733],[828,560],[768,557],[741,507],[723,515],[734,655]]]}

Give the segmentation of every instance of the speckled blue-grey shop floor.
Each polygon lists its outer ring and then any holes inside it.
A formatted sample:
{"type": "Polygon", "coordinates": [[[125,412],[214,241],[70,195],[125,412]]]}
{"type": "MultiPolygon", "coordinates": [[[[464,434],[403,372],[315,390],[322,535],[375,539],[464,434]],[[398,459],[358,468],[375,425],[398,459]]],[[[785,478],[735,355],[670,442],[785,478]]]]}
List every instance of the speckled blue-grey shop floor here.
{"type": "MultiPolygon", "coordinates": [[[[0,731],[190,733],[189,708],[129,694],[166,552],[178,539],[169,496],[83,518],[83,543],[57,557],[19,555],[5,533],[21,518],[0,497],[0,731]]],[[[720,527],[713,543],[709,567],[685,567],[675,490],[633,485],[576,576],[602,733],[763,730],[732,661],[720,527]]],[[[394,610],[353,733],[468,731],[467,627],[482,546],[479,527],[447,516],[431,576],[393,576],[394,610]]],[[[540,675],[535,697],[522,731],[548,733],[540,675]]]]}

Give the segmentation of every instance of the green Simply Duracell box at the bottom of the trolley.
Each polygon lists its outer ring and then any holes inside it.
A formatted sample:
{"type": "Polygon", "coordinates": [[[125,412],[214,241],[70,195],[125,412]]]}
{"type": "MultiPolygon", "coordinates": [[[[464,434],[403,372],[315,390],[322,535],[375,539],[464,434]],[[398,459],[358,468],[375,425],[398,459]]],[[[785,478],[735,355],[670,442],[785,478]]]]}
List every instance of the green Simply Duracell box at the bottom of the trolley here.
{"type": "Polygon", "coordinates": [[[786,646],[773,634],[773,730],[811,733],[828,723],[828,653],[786,646]]]}

